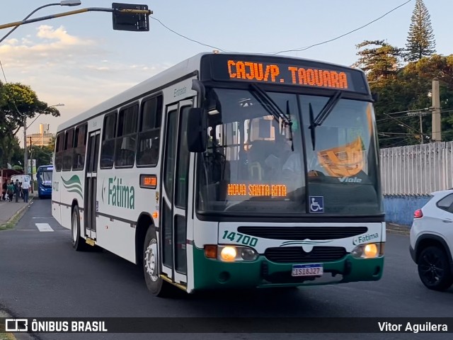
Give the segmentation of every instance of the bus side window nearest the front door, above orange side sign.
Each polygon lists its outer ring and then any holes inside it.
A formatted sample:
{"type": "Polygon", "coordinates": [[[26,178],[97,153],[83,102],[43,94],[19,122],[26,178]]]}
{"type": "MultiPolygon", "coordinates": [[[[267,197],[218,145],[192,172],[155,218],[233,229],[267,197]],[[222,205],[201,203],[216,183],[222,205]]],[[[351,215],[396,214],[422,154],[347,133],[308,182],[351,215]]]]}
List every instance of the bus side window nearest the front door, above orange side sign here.
{"type": "Polygon", "coordinates": [[[159,161],[162,102],[163,97],[156,96],[142,103],[137,144],[137,165],[139,166],[156,166],[159,161]]]}

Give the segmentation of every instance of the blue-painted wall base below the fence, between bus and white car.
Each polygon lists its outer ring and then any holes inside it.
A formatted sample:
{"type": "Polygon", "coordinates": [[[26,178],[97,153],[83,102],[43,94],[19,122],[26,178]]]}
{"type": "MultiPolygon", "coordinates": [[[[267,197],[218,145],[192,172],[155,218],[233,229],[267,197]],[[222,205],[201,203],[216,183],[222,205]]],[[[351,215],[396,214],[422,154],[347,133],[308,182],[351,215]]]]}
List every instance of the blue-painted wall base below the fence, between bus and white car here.
{"type": "Polygon", "coordinates": [[[412,225],[413,212],[425,205],[431,196],[428,195],[385,195],[384,211],[386,222],[398,225],[412,225]]]}

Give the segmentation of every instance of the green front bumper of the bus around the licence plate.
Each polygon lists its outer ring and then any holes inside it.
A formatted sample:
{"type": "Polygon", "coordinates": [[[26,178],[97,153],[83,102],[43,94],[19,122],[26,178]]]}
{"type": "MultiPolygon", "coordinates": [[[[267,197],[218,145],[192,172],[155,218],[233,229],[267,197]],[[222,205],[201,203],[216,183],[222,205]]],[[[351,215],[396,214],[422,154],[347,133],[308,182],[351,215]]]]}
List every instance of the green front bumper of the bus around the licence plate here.
{"type": "Polygon", "coordinates": [[[339,261],[323,262],[321,277],[293,277],[294,264],[301,263],[275,263],[265,256],[258,256],[255,261],[222,262],[207,259],[203,249],[195,248],[194,288],[265,288],[376,281],[382,278],[384,256],[357,259],[348,254],[339,261]]]}

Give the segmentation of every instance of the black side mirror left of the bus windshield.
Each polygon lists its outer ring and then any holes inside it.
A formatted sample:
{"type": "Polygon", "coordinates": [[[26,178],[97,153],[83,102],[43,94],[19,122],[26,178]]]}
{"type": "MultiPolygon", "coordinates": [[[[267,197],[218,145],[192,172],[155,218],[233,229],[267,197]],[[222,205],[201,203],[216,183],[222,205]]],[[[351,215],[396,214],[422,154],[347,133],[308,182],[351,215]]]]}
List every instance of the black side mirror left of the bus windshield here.
{"type": "Polygon", "coordinates": [[[207,142],[207,115],[202,108],[190,108],[187,124],[189,152],[205,152],[207,142]]]}

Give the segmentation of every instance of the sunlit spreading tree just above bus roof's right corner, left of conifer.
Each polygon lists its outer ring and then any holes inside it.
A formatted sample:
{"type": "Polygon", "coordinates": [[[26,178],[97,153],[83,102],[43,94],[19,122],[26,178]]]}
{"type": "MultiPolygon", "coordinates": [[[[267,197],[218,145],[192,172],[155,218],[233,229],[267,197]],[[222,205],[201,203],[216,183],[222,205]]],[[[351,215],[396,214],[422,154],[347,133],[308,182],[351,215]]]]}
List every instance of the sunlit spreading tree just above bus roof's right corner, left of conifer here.
{"type": "Polygon", "coordinates": [[[353,66],[363,69],[370,83],[395,77],[401,59],[400,48],[389,45],[384,40],[365,40],[356,47],[367,47],[357,52],[359,60],[353,66]]]}

